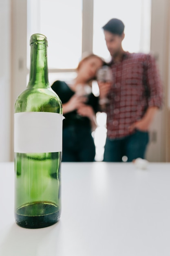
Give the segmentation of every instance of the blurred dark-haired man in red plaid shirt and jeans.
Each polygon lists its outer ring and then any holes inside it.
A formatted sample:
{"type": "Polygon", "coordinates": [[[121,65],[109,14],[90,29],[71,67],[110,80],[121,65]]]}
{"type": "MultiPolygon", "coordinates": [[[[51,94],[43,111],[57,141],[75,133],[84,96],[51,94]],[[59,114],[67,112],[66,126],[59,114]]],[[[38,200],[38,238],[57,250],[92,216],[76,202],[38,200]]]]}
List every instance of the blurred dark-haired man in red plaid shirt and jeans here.
{"type": "Polygon", "coordinates": [[[112,61],[112,83],[99,81],[100,104],[107,114],[104,161],[128,162],[145,157],[148,130],[162,104],[162,84],[150,54],[129,53],[122,48],[124,23],[109,20],[103,27],[112,61]]]}

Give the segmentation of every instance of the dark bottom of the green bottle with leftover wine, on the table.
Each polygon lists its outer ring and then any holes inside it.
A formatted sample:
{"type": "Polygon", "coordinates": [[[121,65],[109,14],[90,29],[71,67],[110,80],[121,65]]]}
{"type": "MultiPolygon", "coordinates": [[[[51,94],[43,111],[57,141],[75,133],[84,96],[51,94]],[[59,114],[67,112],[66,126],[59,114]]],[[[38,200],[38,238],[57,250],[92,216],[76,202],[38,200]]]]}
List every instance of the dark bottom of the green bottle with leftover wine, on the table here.
{"type": "Polygon", "coordinates": [[[60,219],[60,215],[61,211],[55,205],[38,202],[17,209],[15,220],[20,227],[39,229],[55,224],[60,219]]]}

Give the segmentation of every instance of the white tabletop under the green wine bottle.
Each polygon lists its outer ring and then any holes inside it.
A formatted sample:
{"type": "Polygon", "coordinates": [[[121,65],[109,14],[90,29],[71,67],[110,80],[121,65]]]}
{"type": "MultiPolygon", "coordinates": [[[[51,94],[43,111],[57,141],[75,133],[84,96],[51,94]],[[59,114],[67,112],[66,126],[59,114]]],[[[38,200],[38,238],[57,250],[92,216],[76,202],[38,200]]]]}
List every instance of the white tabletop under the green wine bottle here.
{"type": "Polygon", "coordinates": [[[0,256],[169,256],[170,163],[62,163],[62,216],[14,220],[14,164],[0,163],[0,256]]]}

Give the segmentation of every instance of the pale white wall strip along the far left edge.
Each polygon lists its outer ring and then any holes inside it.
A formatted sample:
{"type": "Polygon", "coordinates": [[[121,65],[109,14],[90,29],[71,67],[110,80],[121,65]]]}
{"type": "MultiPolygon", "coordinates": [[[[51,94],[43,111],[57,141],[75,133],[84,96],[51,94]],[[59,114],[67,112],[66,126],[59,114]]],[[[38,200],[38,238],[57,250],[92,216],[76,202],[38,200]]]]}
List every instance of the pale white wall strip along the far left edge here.
{"type": "Polygon", "coordinates": [[[11,148],[11,1],[0,0],[0,162],[11,148]]]}

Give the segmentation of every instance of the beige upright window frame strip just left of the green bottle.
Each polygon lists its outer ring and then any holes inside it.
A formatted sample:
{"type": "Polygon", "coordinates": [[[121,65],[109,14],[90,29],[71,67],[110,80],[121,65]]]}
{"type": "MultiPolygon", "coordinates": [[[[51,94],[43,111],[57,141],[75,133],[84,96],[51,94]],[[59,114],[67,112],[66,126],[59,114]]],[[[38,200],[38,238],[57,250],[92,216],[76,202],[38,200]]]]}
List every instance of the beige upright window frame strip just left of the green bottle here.
{"type": "Polygon", "coordinates": [[[27,1],[11,0],[11,160],[13,153],[13,113],[15,100],[26,89],[27,1]]]}

